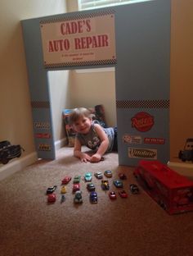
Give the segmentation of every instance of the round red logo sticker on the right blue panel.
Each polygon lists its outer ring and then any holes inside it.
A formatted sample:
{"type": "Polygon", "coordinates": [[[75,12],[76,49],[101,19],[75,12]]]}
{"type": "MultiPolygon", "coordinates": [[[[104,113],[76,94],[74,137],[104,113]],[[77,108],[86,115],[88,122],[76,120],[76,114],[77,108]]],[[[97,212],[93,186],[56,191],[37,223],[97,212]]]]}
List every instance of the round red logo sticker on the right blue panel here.
{"type": "Polygon", "coordinates": [[[131,120],[132,127],[142,132],[150,130],[154,126],[154,117],[147,112],[138,112],[131,120]]]}

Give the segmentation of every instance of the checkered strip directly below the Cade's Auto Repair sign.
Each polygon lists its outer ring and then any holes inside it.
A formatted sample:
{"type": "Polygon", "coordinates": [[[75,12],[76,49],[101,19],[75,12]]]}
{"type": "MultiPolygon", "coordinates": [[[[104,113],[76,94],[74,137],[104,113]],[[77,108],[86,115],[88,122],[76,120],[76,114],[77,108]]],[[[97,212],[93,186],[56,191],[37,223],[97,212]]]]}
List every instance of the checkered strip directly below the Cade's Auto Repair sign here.
{"type": "Polygon", "coordinates": [[[116,64],[116,59],[101,60],[101,61],[91,61],[91,62],[63,62],[63,63],[51,63],[44,64],[44,67],[49,68],[60,68],[60,67],[70,67],[70,66],[96,66],[96,65],[111,65],[116,64]]]}

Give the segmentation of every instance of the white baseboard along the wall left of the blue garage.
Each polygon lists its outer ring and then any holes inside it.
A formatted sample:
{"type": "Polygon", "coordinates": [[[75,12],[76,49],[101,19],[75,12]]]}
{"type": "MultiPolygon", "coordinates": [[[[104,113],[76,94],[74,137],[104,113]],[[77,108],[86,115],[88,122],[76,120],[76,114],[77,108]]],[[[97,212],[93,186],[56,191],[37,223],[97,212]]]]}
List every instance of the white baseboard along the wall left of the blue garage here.
{"type": "Polygon", "coordinates": [[[20,171],[21,169],[29,166],[37,160],[37,153],[34,152],[30,153],[24,158],[14,159],[12,162],[8,162],[7,164],[0,167],[0,181],[7,178],[7,176],[11,176],[11,174],[15,173],[16,171],[20,171]]]}

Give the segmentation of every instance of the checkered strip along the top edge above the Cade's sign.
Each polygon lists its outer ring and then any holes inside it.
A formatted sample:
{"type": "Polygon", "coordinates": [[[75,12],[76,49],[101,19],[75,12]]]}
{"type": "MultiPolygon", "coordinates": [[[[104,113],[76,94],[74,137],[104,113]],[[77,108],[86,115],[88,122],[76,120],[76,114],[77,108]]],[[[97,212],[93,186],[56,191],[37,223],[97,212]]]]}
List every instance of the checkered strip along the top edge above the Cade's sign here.
{"type": "Polygon", "coordinates": [[[39,23],[41,25],[43,24],[50,24],[50,23],[56,23],[56,22],[62,22],[62,21],[74,21],[74,20],[79,20],[79,19],[88,19],[88,18],[93,18],[96,16],[105,16],[105,15],[114,15],[114,10],[106,10],[106,11],[96,11],[92,13],[83,13],[83,11],[80,11],[78,15],[74,16],[58,16],[57,18],[53,19],[45,19],[40,21],[39,23]]]}

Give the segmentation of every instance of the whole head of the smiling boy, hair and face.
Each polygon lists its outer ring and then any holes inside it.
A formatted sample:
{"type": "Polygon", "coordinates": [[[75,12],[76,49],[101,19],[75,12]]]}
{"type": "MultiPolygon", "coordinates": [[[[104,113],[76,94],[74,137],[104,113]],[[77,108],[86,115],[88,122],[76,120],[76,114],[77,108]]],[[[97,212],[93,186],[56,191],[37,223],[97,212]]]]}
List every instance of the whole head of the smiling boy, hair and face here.
{"type": "Polygon", "coordinates": [[[75,131],[87,134],[92,125],[92,113],[85,107],[74,108],[70,113],[69,124],[75,131]]]}

